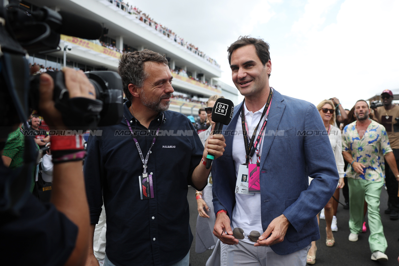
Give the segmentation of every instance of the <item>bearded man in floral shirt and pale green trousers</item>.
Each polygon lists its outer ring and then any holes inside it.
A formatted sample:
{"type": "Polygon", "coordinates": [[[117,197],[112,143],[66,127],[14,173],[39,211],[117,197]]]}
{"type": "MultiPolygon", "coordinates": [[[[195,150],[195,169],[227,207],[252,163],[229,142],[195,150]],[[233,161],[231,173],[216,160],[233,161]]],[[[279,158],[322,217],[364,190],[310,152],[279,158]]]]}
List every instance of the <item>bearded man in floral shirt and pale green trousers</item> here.
{"type": "Polygon", "coordinates": [[[368,207],[371,260],[387,261],[388,256],[384,254],[387,240],[379,215],[379,198],[385,179],[384,161],[387,161],[397,179],[399,172],[389,146],[387,131],[381,124],[369,119],[369,112],[367,102],[358,100],[355,104],[357,120],[345,126],[342,134],[342,155],[350,164],[345,173],[349,186],[349,240],[358,240],[363,225],[365,200],[368,207]]]}

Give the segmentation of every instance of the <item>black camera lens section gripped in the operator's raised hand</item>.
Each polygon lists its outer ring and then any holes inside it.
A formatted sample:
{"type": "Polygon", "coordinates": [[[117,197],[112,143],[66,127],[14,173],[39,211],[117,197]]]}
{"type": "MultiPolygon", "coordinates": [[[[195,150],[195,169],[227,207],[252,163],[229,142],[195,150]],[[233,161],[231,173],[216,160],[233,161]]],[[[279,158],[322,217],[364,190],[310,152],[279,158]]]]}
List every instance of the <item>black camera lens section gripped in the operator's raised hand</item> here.
{"type": "MultiPolygon", "coordinates": [[[[72,98],[65,87],[62,72],[48,72],[54,79],[53,100],[61,111],[62,120],[71,130],[94,129],[97,126],[118,124],[123,116],[122,79],[114,71],[90,71],[85,73],[95,89],[96,99],[72,98]]],[[[38,110],[39,78],[30,81],[29,107],[38,110]]]]}

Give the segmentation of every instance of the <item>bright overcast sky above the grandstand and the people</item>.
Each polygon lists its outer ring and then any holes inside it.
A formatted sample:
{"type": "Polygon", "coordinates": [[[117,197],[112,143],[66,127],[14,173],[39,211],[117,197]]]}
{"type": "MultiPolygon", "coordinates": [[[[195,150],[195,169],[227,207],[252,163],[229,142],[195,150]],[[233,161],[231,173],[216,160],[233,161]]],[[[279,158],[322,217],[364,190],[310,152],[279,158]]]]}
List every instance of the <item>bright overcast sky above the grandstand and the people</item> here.
{"type": "Polygon", "coordinates": [[[270,85],[344,108],[399,89],[398,0],[128,0],[221,65],[234,87],[227,47],[240,35],[270,44],[270,85]]]}

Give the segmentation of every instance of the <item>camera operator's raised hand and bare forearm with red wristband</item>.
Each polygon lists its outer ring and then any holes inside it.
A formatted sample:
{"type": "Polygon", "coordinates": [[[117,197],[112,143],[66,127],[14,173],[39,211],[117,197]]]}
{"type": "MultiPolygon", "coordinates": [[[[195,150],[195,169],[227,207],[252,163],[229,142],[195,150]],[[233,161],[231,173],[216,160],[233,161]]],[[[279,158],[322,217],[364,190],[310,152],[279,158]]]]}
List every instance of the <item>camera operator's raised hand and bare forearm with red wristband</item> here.
{"type": "MultiPolygon", "coordinates": [[[[83,71],[64,68],[63,72],[65,77],[65,87],[69,92],[70,98],[85,97],[88,99],[95,99],[94,87],[91,85],[83,71]]],[[[62,120],[61,112],[55,108],[53,91],[53,79],[48,74],[41,74],[39,85],[40,113],[43,115],[44,120],[51,130],[63,130],[66,128],[62,120]]],[[[60,158],[63,157],[68,159],[67,155],[71,154],[74,156],[81,156],[83,150],[76,150],[75,153],[69,154],[66,153],[68,151],[70,152],[69,148],[65,148],[65,150],[60,149],[60,147],[62,147],[62,145],[60,145],[60,143],[62,143],[60,139],[64,137],[68,139],[70,136],[60,134],[50,137],[53,147],[53,162],[54,160],[58,160],[56,161],[57,163],[54,164],[53,168],[53,186],[50,201],[58,211],[63,213],[78,227],[75,247],[65,265],[85,265],[89,248],[88,239],[90,218],[82,172],[82,161],[60,161],[60,158]]],[[[78,144],[78,142],[76,143],[78,144]]]]}

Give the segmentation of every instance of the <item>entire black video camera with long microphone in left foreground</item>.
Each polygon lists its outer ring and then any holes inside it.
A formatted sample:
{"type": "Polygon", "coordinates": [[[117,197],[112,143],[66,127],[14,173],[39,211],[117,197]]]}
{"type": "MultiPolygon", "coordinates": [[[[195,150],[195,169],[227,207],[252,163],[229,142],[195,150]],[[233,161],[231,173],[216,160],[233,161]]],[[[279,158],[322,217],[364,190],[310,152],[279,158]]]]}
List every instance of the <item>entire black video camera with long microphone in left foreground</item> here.
{"type": "MultiPolygon", "coordinates": [[[[97,22],[67,12],[55,12],[47,7],[32,11],[19,4],[10,4],[6,8],[0,6],[0,85],[8,91],[4,91],[8,100],[2,101],[13,105],[10,115],[15,116],[16,112],[19,121],[25,122],[30,108],[38,110],[40,75],[30,77],[28,53],[57,49],[60,34],[98,39],[102,35],[102,29],[97,22]]],[[[94,129],[97,126],[118,124],[122,120],[122,80],[118,73],[86,73],[95,87],[95,100],[84,97],[69,99],[63,73],[47,74],[54,79],[55,108],[61,112],[67,128],[94,129]]],[[[11,121],[3,118],[0,122],[4,126],[15,123],[16,119],[11,121]]]]}

